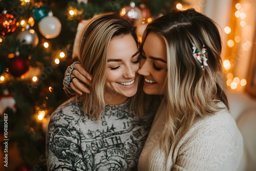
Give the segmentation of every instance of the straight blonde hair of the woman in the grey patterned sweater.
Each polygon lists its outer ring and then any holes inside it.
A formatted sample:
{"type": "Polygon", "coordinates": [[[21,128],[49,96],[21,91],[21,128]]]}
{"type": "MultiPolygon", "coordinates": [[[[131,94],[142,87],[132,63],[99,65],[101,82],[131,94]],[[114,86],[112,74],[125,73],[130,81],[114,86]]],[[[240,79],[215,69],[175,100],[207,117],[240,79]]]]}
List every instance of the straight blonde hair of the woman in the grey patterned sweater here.
{"type": "MultiPolygon", "coordinates": [[[[104,90],[106,82],[107,50],[109,42],[114,37],[131,34],[139,46],[135,29],[129,22],[121,19],[117,13],[105,12],[93,18],[82,30],[78,59],[93,77],[90,94],[83,94],[77,97],[82,101],[83,112],[90,118],[98,120],[101,112],[105,110],[104,90]]],[[[137,98],[140,93],[132,97],[130,110],[138,111],[143,115],[143,102],[137,98]]]]}

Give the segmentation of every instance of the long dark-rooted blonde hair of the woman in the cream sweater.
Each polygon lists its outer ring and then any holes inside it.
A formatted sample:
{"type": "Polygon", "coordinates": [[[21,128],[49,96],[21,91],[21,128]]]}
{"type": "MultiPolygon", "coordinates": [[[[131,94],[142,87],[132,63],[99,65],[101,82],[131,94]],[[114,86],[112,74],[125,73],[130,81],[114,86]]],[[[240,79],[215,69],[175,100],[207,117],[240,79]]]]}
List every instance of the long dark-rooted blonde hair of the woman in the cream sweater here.
{"type": "Polygon", "coordinates": [[[221,62],[221,37],[214,22],[194,9],[173,11],[149,24],[149,32],[162,36],[167,49],[167,92],[164,100],[166,124],[160,144],[169,153],[178,130],[185,134],[196,117],[212,115],[228,108],[221,62]],[[202,69],[193,57],[193,46],[207,49],[208,66],[202,69]]]}

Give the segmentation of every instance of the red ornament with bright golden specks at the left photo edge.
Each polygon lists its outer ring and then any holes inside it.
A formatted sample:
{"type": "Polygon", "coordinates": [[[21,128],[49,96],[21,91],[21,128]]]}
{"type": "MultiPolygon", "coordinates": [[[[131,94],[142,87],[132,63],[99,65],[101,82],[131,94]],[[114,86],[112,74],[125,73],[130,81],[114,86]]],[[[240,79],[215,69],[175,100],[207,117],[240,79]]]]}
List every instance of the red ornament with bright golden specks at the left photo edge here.
{"type": "Polygon", "coordinates": [[[16,18],[4,10],[0,15],[0,34],[4,36],[9,32],[14,32],[16,28],[16,18]]]}

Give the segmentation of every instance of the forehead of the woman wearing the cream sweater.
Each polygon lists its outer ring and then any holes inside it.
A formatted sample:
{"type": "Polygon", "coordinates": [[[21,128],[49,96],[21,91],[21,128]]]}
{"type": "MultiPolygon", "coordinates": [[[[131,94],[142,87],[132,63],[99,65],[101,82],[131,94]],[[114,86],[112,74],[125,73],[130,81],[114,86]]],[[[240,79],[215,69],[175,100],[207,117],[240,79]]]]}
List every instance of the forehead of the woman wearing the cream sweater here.
{"type": "Polygon", "coordinates": [[[147,34],[143,44],[143,51],[148,56],[159,57],[164,60],[167,58],[165,41],[163,37],[154,32],[147,34]]]}

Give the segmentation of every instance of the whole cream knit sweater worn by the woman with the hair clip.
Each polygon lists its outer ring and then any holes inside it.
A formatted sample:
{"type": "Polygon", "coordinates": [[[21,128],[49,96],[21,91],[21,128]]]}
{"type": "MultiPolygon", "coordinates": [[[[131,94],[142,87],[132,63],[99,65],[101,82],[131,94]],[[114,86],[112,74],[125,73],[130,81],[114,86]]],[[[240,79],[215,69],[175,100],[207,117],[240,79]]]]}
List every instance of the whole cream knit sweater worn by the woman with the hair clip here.
{"type": "MultiPolygon", "coordinates": [[[[167,156],[160,151],[159,139],[165,118],[162,109],[154,119],[139,159],[138,170],[236,170],[243,154],[243,139],[227,109],[198,118],[176,141],[167,156]]],[[[218,105],[225,107],[224,103],[218,105]]]]}

